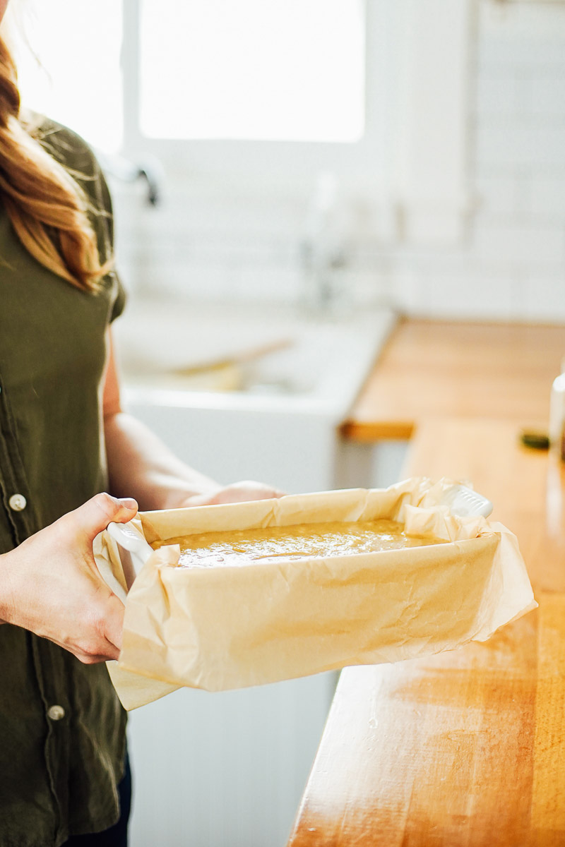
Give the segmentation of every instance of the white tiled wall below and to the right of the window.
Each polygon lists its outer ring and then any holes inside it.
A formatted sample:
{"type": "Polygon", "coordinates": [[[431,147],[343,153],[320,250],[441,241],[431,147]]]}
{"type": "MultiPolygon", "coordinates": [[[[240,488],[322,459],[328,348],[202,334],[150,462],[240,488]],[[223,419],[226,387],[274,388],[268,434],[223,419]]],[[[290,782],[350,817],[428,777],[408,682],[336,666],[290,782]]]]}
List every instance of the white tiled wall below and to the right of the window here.
{"type": "MultiPolygon", "coordinates": [[[[431,317],[565,321],[565,5],[480,0],[468,127],[473,208],[463,241],[407,246],[352,199],[343,272],[360,302],[431,317]],[[379,234],[375,236],[374,233],[379,234]]],[[[292,302],[306,197],[254,200],[169,184],[162,208],[114,186],[134,291],[292,302]]],[[[376,207],[378,208],[378,207],[376,207]]]]}

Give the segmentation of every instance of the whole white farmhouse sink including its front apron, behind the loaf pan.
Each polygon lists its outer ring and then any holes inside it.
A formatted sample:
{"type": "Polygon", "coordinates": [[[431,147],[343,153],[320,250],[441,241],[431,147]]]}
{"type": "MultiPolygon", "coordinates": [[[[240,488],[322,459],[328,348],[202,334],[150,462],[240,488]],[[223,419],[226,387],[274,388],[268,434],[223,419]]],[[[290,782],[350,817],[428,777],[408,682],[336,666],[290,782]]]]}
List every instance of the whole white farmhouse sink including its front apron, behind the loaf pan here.
{"type": "Polygon", "coordinates": [[[384,309],[330,321],[291,308],[132,302],[115,325],[125,406],[219,481],[261,479],[295,493],[341,487],[337,427],[394,323],[384,309]],[[177,373],[274,342],[285,346],[231,375],[226,366],[196,379],[177,373]],[[212,390],[219,374],[235,390],[212,390]]]}

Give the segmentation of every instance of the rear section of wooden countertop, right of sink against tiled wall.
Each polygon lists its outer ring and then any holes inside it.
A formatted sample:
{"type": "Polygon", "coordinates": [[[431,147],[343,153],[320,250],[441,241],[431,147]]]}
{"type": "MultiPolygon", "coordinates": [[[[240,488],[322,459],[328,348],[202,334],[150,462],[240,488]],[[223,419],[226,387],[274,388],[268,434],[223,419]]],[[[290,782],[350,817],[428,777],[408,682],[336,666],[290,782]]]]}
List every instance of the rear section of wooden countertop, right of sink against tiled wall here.
{"type": "Polygon", "coordinates": [[[343,434],[410,438],[416,421],[439,416],[546,422],[563,357],[565,327],[401,320],[343,434]]]}

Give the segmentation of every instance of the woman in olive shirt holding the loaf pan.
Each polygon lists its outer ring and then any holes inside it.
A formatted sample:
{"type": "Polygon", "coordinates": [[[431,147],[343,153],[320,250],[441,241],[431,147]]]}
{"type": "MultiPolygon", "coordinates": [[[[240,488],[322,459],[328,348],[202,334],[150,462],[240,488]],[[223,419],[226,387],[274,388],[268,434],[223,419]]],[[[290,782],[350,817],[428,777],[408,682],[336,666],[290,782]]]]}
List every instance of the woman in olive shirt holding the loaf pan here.
{"type": "Polygon", "coordinates": [[[123,303],[97,163],[69,130],[24,119],[0,41],[3,847],[126,843],[125,712],[104,664],[124,608],[97,573],[97,533],[138,503],[277,495],[213,483],[121,411],[108,327],[123,303]]]}

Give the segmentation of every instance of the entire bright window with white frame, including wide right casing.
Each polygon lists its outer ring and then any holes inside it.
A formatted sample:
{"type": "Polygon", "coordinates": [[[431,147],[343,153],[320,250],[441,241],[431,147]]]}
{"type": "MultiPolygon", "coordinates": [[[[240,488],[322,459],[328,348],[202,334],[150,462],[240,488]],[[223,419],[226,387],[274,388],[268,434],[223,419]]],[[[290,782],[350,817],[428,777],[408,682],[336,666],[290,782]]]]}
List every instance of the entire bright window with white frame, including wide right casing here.
{"type": "Polygon", "coordinates": [[[380,237],[397,208],[407,238],[410,215],[459,231],[471,0],[25,5],[47,73],[19,51],[24,99],[102,152],[192,197],[303,202],[330,173],[380,237]]]}

